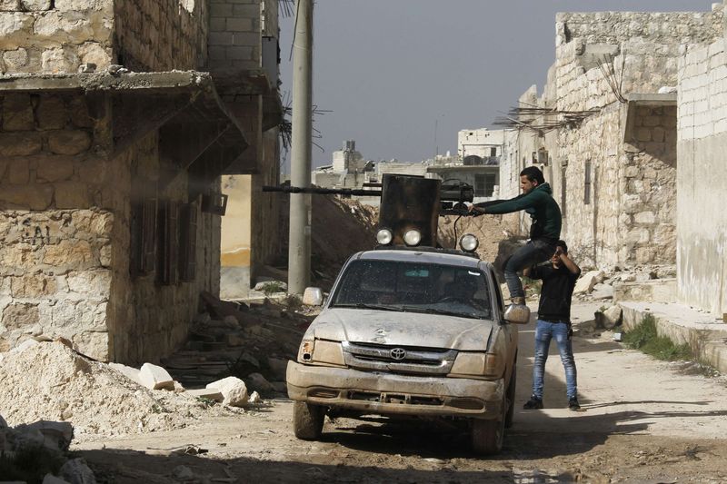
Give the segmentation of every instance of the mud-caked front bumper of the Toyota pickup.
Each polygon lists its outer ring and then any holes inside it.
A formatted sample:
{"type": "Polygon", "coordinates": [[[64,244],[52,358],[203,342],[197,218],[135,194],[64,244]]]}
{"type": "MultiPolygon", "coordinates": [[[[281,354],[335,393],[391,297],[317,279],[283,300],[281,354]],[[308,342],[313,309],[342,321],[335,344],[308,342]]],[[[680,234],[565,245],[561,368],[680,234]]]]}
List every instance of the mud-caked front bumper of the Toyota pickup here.
{"type": "Polygon", "coordinates": [[[288,361],[288,396],[334,409],[378,415],[494,419],[502,415],[503,380],[417,377],[288,361]]]}

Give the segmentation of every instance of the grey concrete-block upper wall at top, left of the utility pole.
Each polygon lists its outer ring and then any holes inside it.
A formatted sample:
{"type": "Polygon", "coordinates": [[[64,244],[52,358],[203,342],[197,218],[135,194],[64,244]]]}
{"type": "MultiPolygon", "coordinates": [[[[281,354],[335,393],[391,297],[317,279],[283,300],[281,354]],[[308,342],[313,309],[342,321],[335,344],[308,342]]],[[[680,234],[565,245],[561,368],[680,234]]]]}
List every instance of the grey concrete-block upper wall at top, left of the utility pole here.
{"type": "MultiPolygon", "coordinates": [[[[277,15],[274,18],[276,21],[277,15]]],[[[272,20],[267,22],[270,25],[272,20]]],[[[258,69],[261,65],[261,0],[210,0],[210,70],[258,69]]]]}

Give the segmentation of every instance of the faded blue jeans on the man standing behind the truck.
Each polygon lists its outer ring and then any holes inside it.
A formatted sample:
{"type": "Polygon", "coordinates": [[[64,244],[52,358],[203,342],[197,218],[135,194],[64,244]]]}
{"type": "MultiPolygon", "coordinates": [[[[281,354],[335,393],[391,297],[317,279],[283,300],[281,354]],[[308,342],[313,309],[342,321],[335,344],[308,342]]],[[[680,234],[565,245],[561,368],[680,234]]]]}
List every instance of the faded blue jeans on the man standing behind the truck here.
{"type": "Polygon", "coordinates": [[[575,382],[576,371],[575,361],[573,360],[571,326],[565,322],[543,320],[537,322],[535,327],[535,361],[533,363],[533,396],[543,400],[545,361],[548,360],[548,350],[553,338],[558,343],[558,351],[561,352],[561,361],[563,361],[563,369],[565,369],[565,386],[568,389],[568,400],[571,400],[578,394],[578,389],[575,382]]]}

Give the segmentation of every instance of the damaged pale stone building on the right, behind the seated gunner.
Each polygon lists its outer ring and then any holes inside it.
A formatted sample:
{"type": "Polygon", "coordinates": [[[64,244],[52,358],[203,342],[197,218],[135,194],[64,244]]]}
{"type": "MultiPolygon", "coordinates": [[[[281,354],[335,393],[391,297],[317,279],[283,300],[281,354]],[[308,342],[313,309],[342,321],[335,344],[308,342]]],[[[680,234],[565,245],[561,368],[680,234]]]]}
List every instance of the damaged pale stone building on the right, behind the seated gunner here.
{"type": "Polygon", "coordinates": [[[519,100],[501,193],[540,166],[583,266],[676,263],[680,58],[722,36],[722,12],[557,15],[555,63],[519,100]]]}

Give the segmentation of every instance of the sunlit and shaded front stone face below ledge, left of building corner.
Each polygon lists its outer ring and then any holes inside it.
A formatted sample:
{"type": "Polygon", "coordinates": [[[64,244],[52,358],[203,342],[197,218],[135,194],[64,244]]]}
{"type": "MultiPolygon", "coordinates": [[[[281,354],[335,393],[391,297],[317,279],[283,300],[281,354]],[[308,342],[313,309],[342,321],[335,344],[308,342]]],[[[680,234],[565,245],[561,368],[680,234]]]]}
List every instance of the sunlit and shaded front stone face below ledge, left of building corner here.
{"type": "Polygon", "coordinates": [[[115,171],[85,97],[0,96],[0,348],[64,336],[105,359],[115,171]]]}

